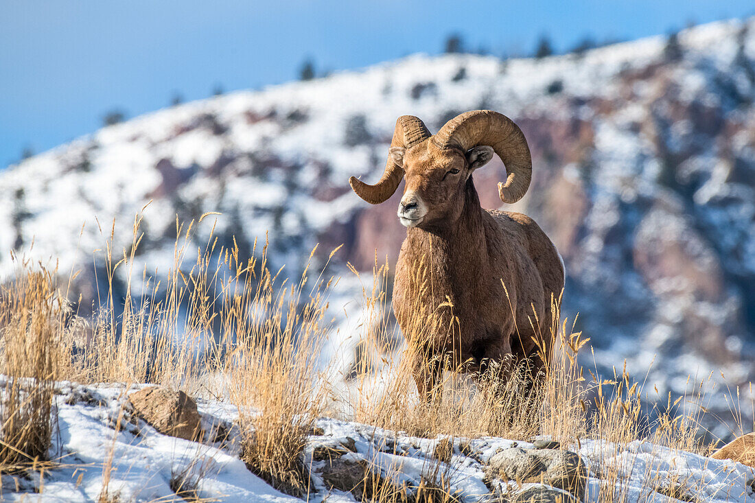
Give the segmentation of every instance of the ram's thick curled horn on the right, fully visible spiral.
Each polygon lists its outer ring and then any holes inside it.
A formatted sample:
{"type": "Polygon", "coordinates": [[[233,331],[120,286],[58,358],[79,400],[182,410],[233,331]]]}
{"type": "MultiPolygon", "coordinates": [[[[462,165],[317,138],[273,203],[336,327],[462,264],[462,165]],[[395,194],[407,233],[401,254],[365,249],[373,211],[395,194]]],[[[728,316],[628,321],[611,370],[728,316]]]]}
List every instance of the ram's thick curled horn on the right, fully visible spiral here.
{"type": "Polygon", "coordinates": [[[492,110],[462,113],[446,122],[433,140],[438,147],[455,147],[463,152],[478,145],[492,147],[508,174],[506,183],[498,184],[501,201],[517,202],[527,192],[532,180],[532,157],[522,130],[507,116],[492,110]]]}

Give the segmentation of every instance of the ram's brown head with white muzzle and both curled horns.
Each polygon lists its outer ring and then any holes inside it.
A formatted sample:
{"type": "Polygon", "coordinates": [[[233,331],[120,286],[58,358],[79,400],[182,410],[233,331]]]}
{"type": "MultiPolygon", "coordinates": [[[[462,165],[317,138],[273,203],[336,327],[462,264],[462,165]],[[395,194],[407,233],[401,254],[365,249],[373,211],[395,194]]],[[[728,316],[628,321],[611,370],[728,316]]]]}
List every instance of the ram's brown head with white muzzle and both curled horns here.
{"type": "Polygon", "coordinates": [[[349,179],[356,194],[380,204],[405,179],[399,220],[405,227],[455,221],[464,209],[467,184],[474,170],[497,153],[506,166],[506,182],[498,184],[503,202],[524,196],[532,178],[532,159],[519,127],[492,110],[474,110],[451,119],[431,135],[414,116],[401,116],[393,131],[383,177],[374,185],[349,179]]]}

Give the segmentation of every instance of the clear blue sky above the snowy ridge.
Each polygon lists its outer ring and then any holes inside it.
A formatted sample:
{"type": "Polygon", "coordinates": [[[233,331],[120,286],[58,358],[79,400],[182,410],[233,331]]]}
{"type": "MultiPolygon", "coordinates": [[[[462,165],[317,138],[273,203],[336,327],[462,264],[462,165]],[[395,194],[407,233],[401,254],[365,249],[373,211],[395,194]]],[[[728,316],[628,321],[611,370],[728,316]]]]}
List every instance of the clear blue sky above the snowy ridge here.
{"type": "Polygon", "coordinates": [[[438,53],[451,32],[492,54],[636,39],[689,22],[755,14],[752,0],[0,0],[0,168],[95,131],[108,110],[137,116],[185,100],[438,53]]]}

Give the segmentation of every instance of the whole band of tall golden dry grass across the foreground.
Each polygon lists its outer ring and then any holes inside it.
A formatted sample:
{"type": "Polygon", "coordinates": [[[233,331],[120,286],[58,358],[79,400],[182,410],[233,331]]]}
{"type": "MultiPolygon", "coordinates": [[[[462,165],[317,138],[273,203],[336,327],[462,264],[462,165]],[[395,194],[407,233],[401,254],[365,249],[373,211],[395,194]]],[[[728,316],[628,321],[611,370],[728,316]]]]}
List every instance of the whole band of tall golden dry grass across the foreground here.
{"type": "MultiPolygon", "coordinates": [[[[292,280],[283,270],[270,269],[266,245],[255,244],[251,257],[242,257],[235,242],[219,245],[212,237],[214,224],[211,237],[195,248],[197,227],[211,224],[207,217],[176,223],[174,261],[162,280],[134,269],[144,237],[141,215],[134,219],[128,251],[116,252],[113,226],[103,247],[108,294],[93,316],[72,312],[76,299],[68,298],[68,285],[75,274],[70,281],[60,280],[54,270],[20,261],[17,278],[0,299],[5,376],[0,471],[24,469],[48,456],[54,383],[59,380],[149,382],[228,400],[239,409],[242,459],[248,468],[302,498],[311,490],[303,461],[307,436],[323,415],[424,437],[527,440],[547,434],[565,445],[590,438],[621,449],[633,440],[649,439],[678,449],[707,449],[700,441],[699,417],[685,415],[671,398],[663,411],[649,410],[642,384],[626,369],[607,379],[590,375],[580,358],[589,339],[562,318],[560,299],[553,301],[553,323],[543,334],[554,344],[541,386],[531,386],[525,366],[511,365],[504,380],[495,369],[474,381],[446,372],[442,403],[427,406],[418,400],[411,378],[411,347],[403,350],[387,315],[387,265],[376,264],[363,288],[365,319],[350,381],[344,384],[343,375],[333,379],[330,369],[340,363],[324,362],[322,347],[335,333],[328,298],[337,279],[306,269],[292,280]],[[126,278],[125,298],[116,298],[113,288],[119,274],[126,278]]],[[[433,326],[428,319],[441,308],[453,306],[418,305],[410,339],[422,337],[433,326]]],[[[701,387],[681,400],[695,403],[703,397],[701,387]]],[[[610,489],[599,499],[623,501],[621,467],[606,463],[602,475],[610,489]]],[[[406,497],[404,492],[388,494],[393,489],[381,486],[371,473],[365,472],[365,481],[374,486],[368,499],[406,497]]],[[[418,489],[424,491],[421,499],[457,501],[444,487],[448,475],[436,475],[418,489]]],[[[657,482],[652,477],[647,475],[649,485],[657,482]]]]}

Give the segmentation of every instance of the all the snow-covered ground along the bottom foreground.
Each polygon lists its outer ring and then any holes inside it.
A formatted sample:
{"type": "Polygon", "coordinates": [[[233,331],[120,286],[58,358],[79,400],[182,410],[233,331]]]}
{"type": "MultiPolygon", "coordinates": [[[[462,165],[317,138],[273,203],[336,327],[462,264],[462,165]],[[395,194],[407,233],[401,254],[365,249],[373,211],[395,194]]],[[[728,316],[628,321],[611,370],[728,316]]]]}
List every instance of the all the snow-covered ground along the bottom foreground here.
{"type": "MultiPolygon", "coordinates": [[[[171,489],[171,479],[176,474],[195,477],[196,495],[201,498],[300,501],[273,489],[239,460],[239,430],[233,406],[199,400],[202,424],[209,433],[202,443],[190,442],[159,434],[143,421],[132,418],[130,409],[123,404],[128,393],[135,389],[61,383],[56,398],[58,424],[51,448],[54,457],[60,457],[60,467],[46,472],[43,480],[2,476],[2,501],[97,501],[108,471],[108,494],[118,498],[111,501],[174,501],[177,497],[171,489]],[[211,438],[218,425],[230,432],[223,435],[222,442],[211,438]]],[[[306,498],[354,501],[349,492],[326,488],[322,466],[328,461],[313,456],[318,448],[341,449],[341,461],[347,465],[366,461],[381,477],[397,485],[405,482],[410,488],[418,486],[430,472],[450,474],[449,489],[458,492],[462,501],[482,501],[492,489],[519,490],[513,481],[485,480],[485,466],[504,449],[512,446],[532,449],[532,443],[493,437],[452,438],[453,454],[440,461],[436,447],[448,441],[447,437],[409,437],[368,424],[319,419],[304,454],[312,473],[312,490],[306,498]]],[[[692,495],[694,501],[744,503],[755,497],[751,487],[755,471],[733,461],[642,441],[615,446],[581,440],[578,445],[563,447],[577,452],[587,465],[584,501],[599,501],[599,492],[609,490],[606,484],[627,495],[622,501],[631,502],[674,501],[655,491],[663,491],[674,483],[682,486],[685,497],[692,495]]]]}

